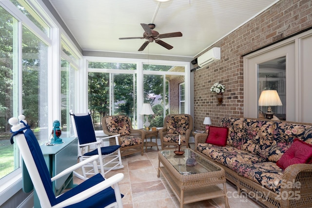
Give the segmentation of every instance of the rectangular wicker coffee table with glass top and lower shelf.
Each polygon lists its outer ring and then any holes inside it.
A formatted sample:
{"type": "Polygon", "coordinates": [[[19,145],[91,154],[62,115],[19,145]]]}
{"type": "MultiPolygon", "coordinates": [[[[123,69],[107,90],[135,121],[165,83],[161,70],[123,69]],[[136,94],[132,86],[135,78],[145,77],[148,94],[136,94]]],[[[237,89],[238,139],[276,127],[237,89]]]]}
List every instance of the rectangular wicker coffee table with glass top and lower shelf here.
{"type": "Polygon", "coordinates": [[[191,149],[182,150],[185,151],[183,155],[176,155],[175,150],[159,151],[157,174],[159,177],[159,173],[162,173],[179,200],[180,208],[183,208],[184,204],[217,197],[224,197],[225,207],[229,208],[225,171],[191,149]],[[194,167],[186,165],[186,160],[192,153],[195,154],[197,162],[194,167]],[[163,167],[160,167],[160,163],[163,167]],[[216,184],[223,184],[223,190],[216,184]]]}

